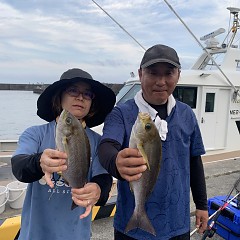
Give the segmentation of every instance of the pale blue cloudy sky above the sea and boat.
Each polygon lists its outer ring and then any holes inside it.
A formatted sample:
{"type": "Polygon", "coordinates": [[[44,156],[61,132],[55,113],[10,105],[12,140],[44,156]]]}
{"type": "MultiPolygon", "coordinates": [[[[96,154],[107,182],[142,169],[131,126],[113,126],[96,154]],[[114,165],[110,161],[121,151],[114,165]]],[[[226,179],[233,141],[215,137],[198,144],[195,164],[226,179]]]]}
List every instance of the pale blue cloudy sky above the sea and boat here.
{"type": "MultiPolygon", "coordinates": [[[[175,48],[183,69],[202,52],[163,0],[96,2],[144,48],[175,48]]],[[[226,8],[240,7],[240,0],[168,3],[198,39],[218,28],[228,31],[226,8]]],[[[137,74],[144,50],[91,0],[0,0],[0,12],[0,83],[52,83],[73,67],[106,83],[137,74]]]]}

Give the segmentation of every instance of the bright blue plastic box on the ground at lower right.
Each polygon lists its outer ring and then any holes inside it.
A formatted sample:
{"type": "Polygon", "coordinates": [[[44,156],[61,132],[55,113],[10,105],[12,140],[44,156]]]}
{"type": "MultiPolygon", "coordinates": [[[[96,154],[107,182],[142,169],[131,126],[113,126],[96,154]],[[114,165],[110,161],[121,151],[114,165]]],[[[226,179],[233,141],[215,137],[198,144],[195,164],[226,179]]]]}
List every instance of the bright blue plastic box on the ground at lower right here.
{"type": "MultiPolygon", "coordinates": [[[[231,197],[229,198],[231,199],[231,197]]],[[[227,200],[229,200],[227,199],[227,200]]],[[[216,196],[208,200],[208,212],[211,216],[216,210],[224,205],[226,196],[216,196]]],[[[211,220],[209,220],[209,223],[211,220]]],[[[240,239],[240,209],[238,208],[237,200],[229,203],[229,205],[222,210],[221,215],[217,218],[216,233],[228,240],[240,239]]]]}

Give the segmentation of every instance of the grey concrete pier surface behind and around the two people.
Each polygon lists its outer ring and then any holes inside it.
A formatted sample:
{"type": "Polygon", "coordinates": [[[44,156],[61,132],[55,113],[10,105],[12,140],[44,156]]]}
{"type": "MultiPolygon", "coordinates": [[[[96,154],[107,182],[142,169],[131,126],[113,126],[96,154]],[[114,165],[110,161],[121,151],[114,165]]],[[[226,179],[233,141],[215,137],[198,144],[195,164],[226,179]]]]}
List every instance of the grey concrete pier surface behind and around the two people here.
{"type": "MultiPolygon", "coordinates": [[[[7,154],[11,155],[10,152],[7,154]]],[[[237,154],[236,152],[228,155],[222,154],[218,155],[217,159],[215,155],[203,157],[208,198],[227,195],[233,188],[234,183],[240,177],[240,158],[237,157],[237,154]],[[234,157],[232,157],[232,155],[234,155],[234,157]]],[[[0,167],[0,185],[6,186],[14,180],[11,166],[9,162],[7,162],[4,166],[0,167]]],[[[235,191],[233,191],[233,195],[234,194],[235,191]]],[[[191,231],[195,228],[194,211],[195,206],[191,198],[191,231]]],[[[21,209],[14,210],[6,204],[6,210],[0,214],[0,221],[12,216],[19,216],[20,214],[21,209]]],[[[92,224],[92,240],[113,239],[112,224],[113,217],[94,220],[92,224]]],[[[191,240],[200,239],[201,235],[198,233],[195,233],[191,237],[191,240]]],[[[223,238],[215,234],[213,239],[222,240],[223,238]]]]}

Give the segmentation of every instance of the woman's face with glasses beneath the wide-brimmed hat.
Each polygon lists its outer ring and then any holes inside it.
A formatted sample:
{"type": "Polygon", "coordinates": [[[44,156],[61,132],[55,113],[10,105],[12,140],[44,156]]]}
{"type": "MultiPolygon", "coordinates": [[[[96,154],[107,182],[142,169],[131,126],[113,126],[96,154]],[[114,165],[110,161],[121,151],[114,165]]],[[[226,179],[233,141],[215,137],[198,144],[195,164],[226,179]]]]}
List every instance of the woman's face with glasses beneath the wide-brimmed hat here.
{"type": "Polygon", "coordinates": [[[66,88],[62,94],[62,108],[69,111],[79,120],[89,113],[94,94],[89,84],[78,82],[66,88]]]}

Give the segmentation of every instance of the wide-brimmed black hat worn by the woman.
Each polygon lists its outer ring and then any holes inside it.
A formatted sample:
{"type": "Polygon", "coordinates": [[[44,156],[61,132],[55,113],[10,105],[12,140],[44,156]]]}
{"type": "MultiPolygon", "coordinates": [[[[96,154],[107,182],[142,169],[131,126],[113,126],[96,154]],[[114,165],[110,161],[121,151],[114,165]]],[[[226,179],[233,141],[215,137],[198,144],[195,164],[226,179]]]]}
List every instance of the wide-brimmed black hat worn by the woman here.
{"type": "Polygon", "coordinates": [[[83,81],[91,86],[95,94],[94,100],[97,106],[95,114],[85,119],[88,127],[95,127],[104,122],[107,114],[112,110],[116,102],[114,92],[104,84],[92,79],[92,76],[81,69],[70,69],[63,73],[60,80],[49,85],[39,96],[37,100],[37,115],[51,122],[55,120],[52,108],[52,99],[59,89],[64,90],[67,86],[83,81]]]}

